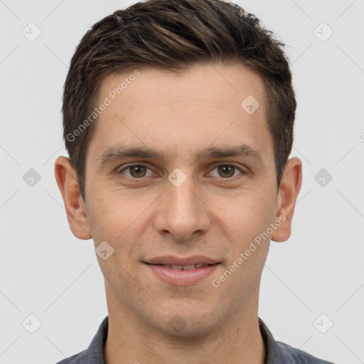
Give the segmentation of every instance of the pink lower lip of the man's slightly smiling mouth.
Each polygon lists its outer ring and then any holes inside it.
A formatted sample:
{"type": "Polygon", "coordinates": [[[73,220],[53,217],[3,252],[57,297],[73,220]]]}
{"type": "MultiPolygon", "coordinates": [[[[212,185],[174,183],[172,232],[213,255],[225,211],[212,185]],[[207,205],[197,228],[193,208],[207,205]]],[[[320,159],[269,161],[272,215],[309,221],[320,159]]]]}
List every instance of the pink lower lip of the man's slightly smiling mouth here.
{"type": "Polygon", "coordinates": [[[171,269],[166,268],[163,265],[147,264],[157,277],[168,284],[175,284],[178,286],[188,286],[189,284],[195,284],[202,279],[212,274],[216,267],[220,263],[211,264],[207,267],[200,267],[195,269],[171,269]]]}

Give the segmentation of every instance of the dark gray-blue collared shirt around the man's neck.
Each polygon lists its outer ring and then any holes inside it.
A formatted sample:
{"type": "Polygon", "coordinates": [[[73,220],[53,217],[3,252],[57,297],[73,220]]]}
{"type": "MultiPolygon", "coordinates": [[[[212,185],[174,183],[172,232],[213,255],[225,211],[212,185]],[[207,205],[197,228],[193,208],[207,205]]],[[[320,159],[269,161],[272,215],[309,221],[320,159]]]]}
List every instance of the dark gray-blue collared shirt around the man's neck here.
{"type": "MultiPolygon", "coordinates": [[[[105,364],[104,346],[108,327],[109,316],[106,316],[87,350],[61,360],[57,364],[105,364]]],[[[280,341],[275,341],[261,319],[259,319],[259,328],[267,353],[265,364],[333,364],[280,341]]]]}

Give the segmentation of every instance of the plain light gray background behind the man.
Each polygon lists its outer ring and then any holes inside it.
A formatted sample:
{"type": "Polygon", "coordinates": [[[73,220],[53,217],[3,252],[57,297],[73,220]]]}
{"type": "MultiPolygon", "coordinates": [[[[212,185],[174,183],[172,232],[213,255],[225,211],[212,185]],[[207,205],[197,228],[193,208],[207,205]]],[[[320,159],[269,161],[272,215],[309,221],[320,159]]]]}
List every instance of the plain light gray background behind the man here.
{"type": "MultiPolygon", "coordinates": [[[[291,155],[304,164],[293,233],[272,242],[259,316],[279,341],[364,363],[364,1],[235,2],[287,44],[299,105],[291,155]],[[326,186],[314,179],[321,168],[333,176],[326,186]]],[[[66,155],[61,94],[75,46],[133,3],[0,0],[0,363],[78,353],[107,316],[93,242],[70,232],[53,168],[66,155]],[[22,34],[30,22],[42,31],[33,42],[22,34]],[[41,176],[33,187],[30,168],[41,176]],[[29,314],[42,323],[35,333],[22,326],[29,314]]]]}

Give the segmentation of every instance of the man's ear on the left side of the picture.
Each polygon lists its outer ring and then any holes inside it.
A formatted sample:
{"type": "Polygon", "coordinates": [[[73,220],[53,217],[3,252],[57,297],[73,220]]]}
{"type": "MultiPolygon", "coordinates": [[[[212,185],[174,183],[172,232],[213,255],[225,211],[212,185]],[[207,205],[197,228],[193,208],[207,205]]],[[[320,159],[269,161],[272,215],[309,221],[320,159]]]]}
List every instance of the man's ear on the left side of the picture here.
{"type": "Polygon", "coordinates": [[[55,161],[55,179],[65,203],[70,230],[78,239],[87,240],[92,237],[87,219],[85,203],[82,200],[80,186],[70,159],[59,156],[55,161]]]}

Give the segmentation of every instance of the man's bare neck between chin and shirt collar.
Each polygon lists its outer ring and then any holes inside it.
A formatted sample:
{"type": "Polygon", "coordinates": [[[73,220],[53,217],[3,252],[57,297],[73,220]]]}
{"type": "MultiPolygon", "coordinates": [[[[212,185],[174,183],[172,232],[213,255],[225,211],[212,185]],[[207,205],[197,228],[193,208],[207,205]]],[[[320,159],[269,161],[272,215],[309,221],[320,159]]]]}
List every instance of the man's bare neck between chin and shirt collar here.
{"type": "MultiPolygon", "coordinates": [[[[109,288],[110,290],[110,288],[109,288]]],[[[107,289],[108,291],[108,289],[107,289]]],[[[109,329],[105,363],[134,364],[264,364],[265,347],[259,331],[257,296],[222,326],[203,336],[171,336],[156,330],[132,309],[109,299],[109,329]]]]}

